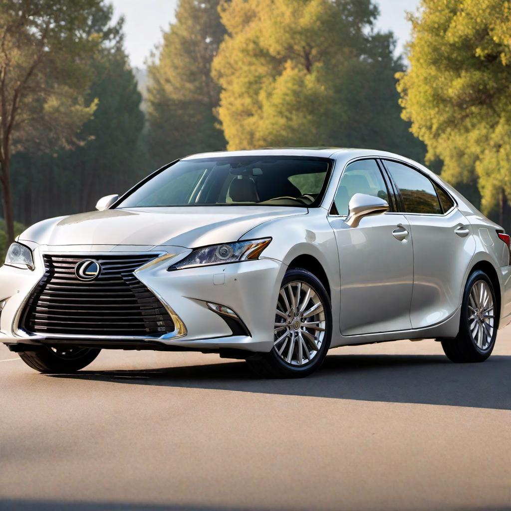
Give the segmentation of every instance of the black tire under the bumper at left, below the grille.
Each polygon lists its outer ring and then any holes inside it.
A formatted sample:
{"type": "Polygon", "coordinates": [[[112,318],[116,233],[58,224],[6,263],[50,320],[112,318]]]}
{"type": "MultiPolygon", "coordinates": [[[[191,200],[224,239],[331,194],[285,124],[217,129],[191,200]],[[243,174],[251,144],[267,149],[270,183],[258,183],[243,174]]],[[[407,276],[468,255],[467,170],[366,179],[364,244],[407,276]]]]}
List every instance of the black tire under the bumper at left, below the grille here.
{"type": "Polygon", "coordinates": [[[52,349],[42,346],[35,351],[20,352],[19,356],[29,367],[39,373],[75,373],[89,365],[100,349],[73,347],[52,349]]]}

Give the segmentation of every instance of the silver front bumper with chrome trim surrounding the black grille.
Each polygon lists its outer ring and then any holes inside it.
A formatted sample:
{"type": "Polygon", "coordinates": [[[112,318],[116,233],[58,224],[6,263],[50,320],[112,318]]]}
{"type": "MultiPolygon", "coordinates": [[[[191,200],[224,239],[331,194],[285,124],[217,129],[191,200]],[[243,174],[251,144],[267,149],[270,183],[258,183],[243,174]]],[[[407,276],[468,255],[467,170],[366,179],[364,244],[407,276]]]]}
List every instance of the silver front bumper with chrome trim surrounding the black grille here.
{"type": "MultiPolygon", "coordinates": [[[[135,270],[136,277],[161,301],[171,314],[175,330],[161,336],[113,336],[80,334],[33,334],[20,327],[22,310],[44,275],[43,253],[95,255],[148,253],[149,247],[32,247],[34,271],[11,266],[0,268],[0,342],[5,344],[87,343],[102,348],[176,349],[220,351],[222,349],[269,352],[273,345],[274,310],[286,267],[280,261],[257,261],[203,266],[167,271],[190,250],[157,247],[158,259],[135,270]],[[175,254],[175,255],[172,255],[175,254]],[[228,318],[211,309],[218,304],[236,313],[243,329],[234,331],[228,318]],[[230,325],[230,326],[229,326],[230,325]]],[[[15,348],[14,348],[15,349],[15,348]]]]}

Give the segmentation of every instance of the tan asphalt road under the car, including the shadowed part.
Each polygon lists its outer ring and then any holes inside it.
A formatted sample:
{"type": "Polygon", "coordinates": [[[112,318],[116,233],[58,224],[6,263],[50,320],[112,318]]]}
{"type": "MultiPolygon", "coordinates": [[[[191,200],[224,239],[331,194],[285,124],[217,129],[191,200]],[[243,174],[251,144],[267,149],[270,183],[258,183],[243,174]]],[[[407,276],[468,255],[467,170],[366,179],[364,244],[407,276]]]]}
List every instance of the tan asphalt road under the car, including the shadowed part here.
{"type": "Polygon", "coordinates": [[[511,509],[510,410],[510,328],[483,364],[399,341],[291,381],[123,351],[39,375],[2,345],[0,509],[511,509]]]}

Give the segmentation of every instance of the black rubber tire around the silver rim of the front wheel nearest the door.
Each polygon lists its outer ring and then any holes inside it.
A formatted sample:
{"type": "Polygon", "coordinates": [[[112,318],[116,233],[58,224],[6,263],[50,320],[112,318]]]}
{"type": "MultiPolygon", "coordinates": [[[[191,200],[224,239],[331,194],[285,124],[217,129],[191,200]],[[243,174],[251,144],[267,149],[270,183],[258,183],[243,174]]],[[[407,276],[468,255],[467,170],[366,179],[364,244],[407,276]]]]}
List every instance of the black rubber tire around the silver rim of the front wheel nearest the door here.
{"type": "Polygon", "coordinates": [[[327,352],[330,349],[330,343],[332,341],[332,306],[327,290],[324,288],[321,281],[310,271],[304,270],[302,268],[288,269],[284,275],[282,284],[279,289],[282,289],[285,285],[295,281],[305,282],[311,286],[314,292],[319,295],[322,301],[327,328],[323,336],[323,342],[319,349],[319,353],[310,363],[305,364],[304,366],[292,366],[291,364],[288,364],[282,360],[282,358],[273,349],[270,353],[266,354],[266,357],[271,365],[279,373],[282,373],[283,376],[300,377],[307,376],[315,371],[318,367],[321,366],[324,358],[327,356],[327,352]]]}

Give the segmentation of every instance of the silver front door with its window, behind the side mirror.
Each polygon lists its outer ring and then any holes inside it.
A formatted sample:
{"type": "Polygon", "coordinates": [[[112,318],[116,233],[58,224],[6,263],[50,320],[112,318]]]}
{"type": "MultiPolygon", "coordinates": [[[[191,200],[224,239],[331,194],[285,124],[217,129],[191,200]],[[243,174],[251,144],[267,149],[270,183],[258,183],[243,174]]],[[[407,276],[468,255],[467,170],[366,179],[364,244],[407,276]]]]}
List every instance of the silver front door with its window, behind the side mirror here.
{"type": "Polygon", "coordinates": [[[340,331],[344,336],[409,330],[413,289],[413,249],[404,215],[368,216],[357,227],[344,220],[356,193],[393,201],[377,162],[346,167],[335,197],[335,231],[341,278],[340,331]]]}

